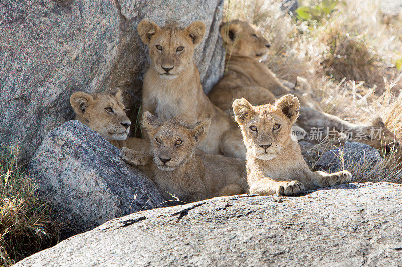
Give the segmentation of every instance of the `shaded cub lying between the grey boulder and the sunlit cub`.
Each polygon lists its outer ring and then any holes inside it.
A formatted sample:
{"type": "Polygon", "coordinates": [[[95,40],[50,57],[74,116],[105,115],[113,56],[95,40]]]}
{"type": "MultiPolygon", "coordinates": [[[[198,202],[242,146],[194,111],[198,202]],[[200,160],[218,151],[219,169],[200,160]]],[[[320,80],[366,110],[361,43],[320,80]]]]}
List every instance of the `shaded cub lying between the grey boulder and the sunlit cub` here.
{"type": "Polygon", "coordinates": [[[132,165],[151,165],[153,181],[166,199],[172,194],[188,203],[248,192],[243,160],[195,151],[210,124],[205,119],[188,126],[178,117],[161,122],[146,112],[142,125],[151,138],[153,158],[128,148],[122,148],[120,156],[132,165]]]}

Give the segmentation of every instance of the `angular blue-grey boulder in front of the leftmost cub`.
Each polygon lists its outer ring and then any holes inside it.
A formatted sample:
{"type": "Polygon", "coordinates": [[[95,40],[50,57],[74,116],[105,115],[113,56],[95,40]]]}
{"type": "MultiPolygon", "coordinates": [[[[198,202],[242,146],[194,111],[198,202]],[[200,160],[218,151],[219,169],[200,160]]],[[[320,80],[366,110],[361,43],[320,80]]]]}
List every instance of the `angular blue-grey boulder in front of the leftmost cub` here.
{"type": "Polygon", "coordinates": [[[28,171],[53,211],[77,232],[165,201],[148,177],[119,158],[117,148],[78,121],[51,131],[28,171]]]}

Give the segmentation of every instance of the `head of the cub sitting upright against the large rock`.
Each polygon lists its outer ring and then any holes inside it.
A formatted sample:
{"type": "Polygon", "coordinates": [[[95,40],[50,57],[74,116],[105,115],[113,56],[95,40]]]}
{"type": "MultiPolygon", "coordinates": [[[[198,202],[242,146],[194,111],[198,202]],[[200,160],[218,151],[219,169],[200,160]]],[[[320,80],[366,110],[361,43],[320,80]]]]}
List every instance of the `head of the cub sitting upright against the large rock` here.
{"type": "Polygon", "coordinates": [[[195,21],[185,28],[168,24],[162,28],[142,20],[137,27],[142,41],[149,47],[149,56],[162,78],[175,79],[192,62],[194,48],[205,33],[205,24],[195,21]]]}

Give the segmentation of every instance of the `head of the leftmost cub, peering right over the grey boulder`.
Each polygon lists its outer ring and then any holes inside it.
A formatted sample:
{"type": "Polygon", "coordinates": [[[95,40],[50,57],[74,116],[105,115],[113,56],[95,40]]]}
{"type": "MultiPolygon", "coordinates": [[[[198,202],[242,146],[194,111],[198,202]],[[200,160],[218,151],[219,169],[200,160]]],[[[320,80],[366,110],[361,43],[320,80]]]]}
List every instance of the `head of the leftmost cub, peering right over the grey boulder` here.
{"type": "Polygon", "coordinates": [[[87,94],[75,92],[70,104],[76,113],[76,120],[98,132],[106,140],[125,140],[131,122],[126,116],[121,92],[116,94],[87,94]]]}

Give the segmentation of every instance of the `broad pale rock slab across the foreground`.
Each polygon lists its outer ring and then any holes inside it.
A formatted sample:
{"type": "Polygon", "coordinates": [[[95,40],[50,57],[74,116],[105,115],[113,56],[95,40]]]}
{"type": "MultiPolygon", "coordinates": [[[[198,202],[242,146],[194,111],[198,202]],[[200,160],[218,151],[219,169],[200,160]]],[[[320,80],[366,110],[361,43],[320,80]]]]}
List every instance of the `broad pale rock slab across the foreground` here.
{"type": "Polygon", "coordinates": [[[15,266],[395,266],[402,185],[234,196],[114,219],[15,266]]]}

